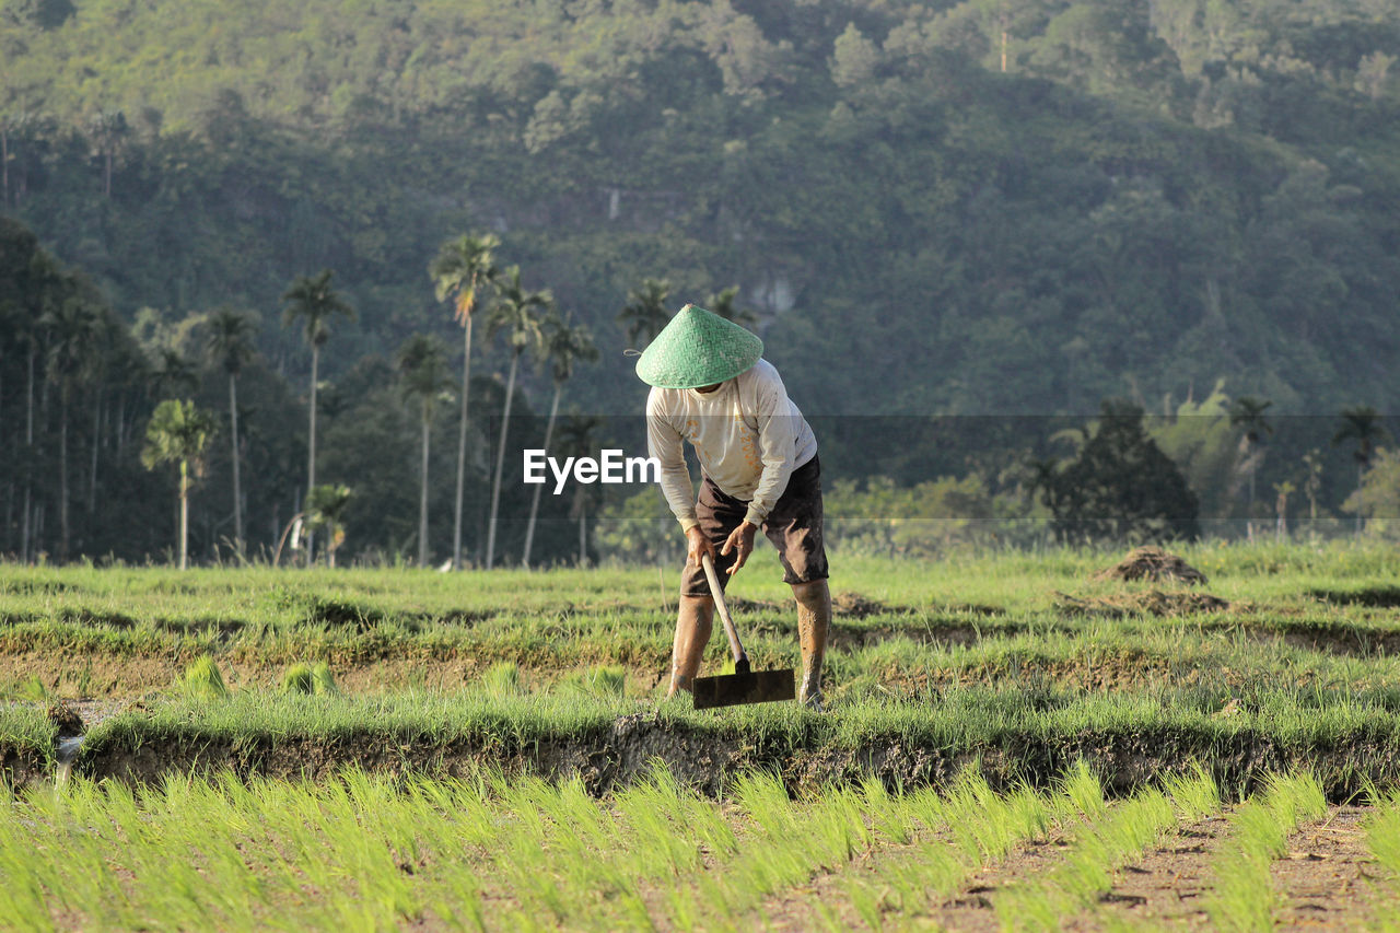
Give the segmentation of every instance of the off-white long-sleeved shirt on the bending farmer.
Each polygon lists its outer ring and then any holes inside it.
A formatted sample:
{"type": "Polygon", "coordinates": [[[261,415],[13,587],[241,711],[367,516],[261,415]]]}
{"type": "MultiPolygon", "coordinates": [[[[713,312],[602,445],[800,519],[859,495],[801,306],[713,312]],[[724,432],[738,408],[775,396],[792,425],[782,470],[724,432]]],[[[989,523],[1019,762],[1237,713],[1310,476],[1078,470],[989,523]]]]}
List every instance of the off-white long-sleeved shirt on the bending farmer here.
{"type": "Polygon", "coordinates": [[[661,490],[687,531],[697,525],[682,438],[724,493],[749,503],[745,521],[762,525],[788,476],[816,455],[816,436],[767,360],[713,392],[652,388],[647,447],[661,464],[661,490]]]}

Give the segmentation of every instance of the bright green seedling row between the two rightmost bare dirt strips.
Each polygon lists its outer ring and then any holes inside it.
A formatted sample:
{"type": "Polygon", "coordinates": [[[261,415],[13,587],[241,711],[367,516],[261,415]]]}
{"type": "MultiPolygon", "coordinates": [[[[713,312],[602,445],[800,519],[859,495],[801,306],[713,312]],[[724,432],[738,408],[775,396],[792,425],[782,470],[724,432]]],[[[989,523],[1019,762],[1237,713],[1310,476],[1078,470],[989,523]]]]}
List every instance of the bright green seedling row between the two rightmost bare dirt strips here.
{"type": "Polygon", "coordinates": [[[1327,800],[1313,775],[1274,775],[1263,794],[1245,801],[1229,817],[1233,838],[1214,862],[1214,891],[1205,902],[1221,930],[1267,930],[1274,926],[1280,895],[1268,864],[1285,850],[1298,825],[1327,813],[1327,800]]]}

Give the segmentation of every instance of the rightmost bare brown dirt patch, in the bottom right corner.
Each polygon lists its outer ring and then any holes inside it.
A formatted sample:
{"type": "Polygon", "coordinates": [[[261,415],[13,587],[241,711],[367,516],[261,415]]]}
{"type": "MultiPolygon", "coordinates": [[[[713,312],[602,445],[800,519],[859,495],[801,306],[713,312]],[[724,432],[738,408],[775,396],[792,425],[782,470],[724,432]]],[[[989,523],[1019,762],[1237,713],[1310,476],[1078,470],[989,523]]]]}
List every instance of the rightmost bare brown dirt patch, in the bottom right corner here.
{"type": "MultiPolygon", "coordinates": [[[[1274,890],[1287,906],[1274,915],[1278,930],[1355,930],[1378,918],[1375,880],[1385,871],[1366,850],[1362,807],[1334,807],[1327,818],[1288,838],[1288,852],[1274,862],[1274,890]]],[[[1389,905],[1394,909],[1394,905],[1389,905]]]]}

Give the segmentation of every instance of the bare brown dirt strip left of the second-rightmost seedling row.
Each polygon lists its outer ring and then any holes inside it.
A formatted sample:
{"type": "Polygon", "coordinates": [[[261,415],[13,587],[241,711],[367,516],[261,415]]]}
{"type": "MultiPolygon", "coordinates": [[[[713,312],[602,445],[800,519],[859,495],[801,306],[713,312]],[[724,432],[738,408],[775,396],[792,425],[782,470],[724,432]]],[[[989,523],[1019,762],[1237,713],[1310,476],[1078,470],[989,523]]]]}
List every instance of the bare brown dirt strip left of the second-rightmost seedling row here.
{"type": "Polygon", "coordinates": [[[1183,825],[1137,862],[1113,876],[1113,888],[1098,911],[1081,913],[1065,930],[1089,932],[1114,920],[1130,926],[1210,929],[1204,898],[1211,887],[1211,863],[1228,838],[1225,813],[1183,825]]]}

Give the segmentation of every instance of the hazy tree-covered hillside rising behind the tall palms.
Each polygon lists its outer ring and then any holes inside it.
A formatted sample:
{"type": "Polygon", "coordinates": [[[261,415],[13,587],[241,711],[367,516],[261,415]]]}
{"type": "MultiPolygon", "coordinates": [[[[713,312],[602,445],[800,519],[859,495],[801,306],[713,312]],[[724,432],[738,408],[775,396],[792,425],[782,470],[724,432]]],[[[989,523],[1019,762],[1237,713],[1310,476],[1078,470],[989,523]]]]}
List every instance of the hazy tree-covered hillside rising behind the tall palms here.
{"type": "MultiPolygon", "coordinates": [[[[591,328],[588,412],[640,408],[616,317],[652,277],[672,310],[738,286],[818,415],[1224,380],[1334,416],[1400,389],[1397,57],[1392,0],[4,0],[0,193],[148,338],[259,312],[295,385],[281,296],[332,269],[342,412],[410,333],[456,346],[427,266],[493,231],[591,328]]],[[[1044,438],[963,440],[937,471],[993,482],[1044,438]]]]}

